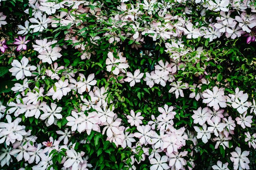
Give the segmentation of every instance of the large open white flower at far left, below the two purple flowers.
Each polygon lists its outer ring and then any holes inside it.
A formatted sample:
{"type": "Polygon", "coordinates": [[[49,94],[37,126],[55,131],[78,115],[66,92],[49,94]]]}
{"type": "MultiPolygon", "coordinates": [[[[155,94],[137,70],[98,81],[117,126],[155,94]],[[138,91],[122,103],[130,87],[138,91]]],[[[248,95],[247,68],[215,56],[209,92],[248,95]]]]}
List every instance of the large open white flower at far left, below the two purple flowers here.
{"type": "Polygon", "coordinates": [[[36,66],[28,65],[29,59],[27,59],[25,56],[22,57],[20,62],[18,60],[13,60],[13,62],[11,63],[13,67],[9,69],[11,75],[15,76],[17,80],[23,79],[25,78],[25,76],[31,76],[32,74],[30,71],[36,70],[36,66]]]}

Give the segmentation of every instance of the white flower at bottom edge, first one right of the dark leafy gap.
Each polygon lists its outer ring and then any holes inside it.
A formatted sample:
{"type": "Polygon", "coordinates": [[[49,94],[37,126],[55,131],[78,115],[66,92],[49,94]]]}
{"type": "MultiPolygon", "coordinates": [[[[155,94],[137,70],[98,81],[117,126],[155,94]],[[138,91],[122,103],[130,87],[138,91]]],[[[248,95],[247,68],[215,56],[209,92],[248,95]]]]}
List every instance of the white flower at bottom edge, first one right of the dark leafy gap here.
{"type": "Polygon", "coordinates": [[[167,165],[167,156],[160,156],[159,154],[155,154],[155,158],[150,159],[150,170],[168,170],[169,166],[167,165]]]}

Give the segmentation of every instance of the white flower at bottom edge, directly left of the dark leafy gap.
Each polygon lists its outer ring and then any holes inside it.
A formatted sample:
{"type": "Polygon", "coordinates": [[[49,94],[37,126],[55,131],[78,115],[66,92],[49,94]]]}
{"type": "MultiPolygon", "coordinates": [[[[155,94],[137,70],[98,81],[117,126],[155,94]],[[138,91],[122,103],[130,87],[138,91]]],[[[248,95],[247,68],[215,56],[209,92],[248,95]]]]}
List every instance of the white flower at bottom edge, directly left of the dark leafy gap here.
{"type": "Polygon", "coordinates": [[[73,148],[66,151],[67,157],[69,157],[63,166],[65,168],[72,167],[74,170],[78,170],[79,163],[83,163],[83,159],[81,157],[81,154],[79,152],[76,152],[73,148]]]}

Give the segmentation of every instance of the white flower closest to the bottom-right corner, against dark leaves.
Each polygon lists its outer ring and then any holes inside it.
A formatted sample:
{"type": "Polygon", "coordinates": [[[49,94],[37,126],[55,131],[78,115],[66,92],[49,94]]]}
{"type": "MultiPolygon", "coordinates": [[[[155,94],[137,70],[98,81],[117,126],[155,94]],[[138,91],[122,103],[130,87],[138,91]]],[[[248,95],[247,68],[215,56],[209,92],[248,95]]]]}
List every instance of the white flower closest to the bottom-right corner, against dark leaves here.
{"type": "Polygon", "coordinates": [[[241,152],[241,148],[236,147],[236,152],[230,153],[232,157],[230,157],[230,160],[234,162],[234,170],[241,169],[247,169],[249,170],[249,159],[247,156],[249,155],[249,151],[241,152]]]}

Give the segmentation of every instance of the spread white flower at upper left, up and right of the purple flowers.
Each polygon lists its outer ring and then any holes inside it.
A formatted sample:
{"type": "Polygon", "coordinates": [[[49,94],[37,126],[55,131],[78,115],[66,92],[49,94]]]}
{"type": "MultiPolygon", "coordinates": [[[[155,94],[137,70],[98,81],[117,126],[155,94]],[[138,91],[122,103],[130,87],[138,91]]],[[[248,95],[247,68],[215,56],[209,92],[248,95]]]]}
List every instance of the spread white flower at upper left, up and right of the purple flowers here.
{"type": "Polygon", "coordinates": [[[48,27],[47,23],[51,22],[50,18],[46,18],[46,14],[42,16],[38,16],[38,18],[30,18],[29,21],[35,23],[36,25],[31,25],[29,28],[33,28],[33,32],[42,32],[44,29],[48,27]],[[39,20],[37,20],[39,19],[39,20]]]}

